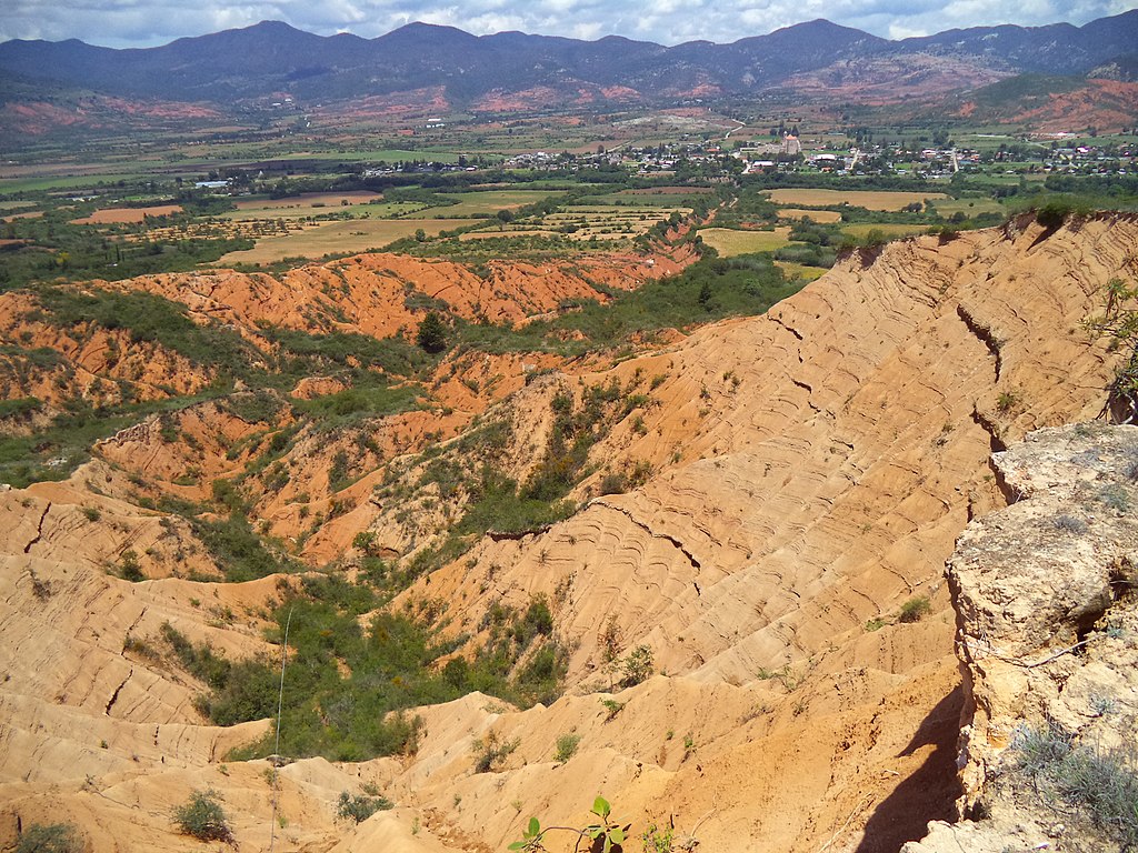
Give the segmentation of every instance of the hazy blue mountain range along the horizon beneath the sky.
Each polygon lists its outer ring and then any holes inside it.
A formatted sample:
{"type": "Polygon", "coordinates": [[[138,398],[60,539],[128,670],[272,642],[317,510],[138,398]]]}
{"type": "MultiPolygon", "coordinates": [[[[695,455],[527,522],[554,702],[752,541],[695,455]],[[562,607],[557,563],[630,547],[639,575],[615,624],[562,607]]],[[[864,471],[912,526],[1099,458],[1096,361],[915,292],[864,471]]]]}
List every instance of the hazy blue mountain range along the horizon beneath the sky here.
{"type": "Polygon", "coordinates": [[[620,36],[476,36],[418,23],[368,40],[263,22],[148,49],[15,40],[0,44],[0,73],[114,96],[226,105],[281,92],[313,101],[443,86],[448,101],[470,106],[488,93],[537,86],[567,93],[619,86],[646,100],[753,94],[795,74],[874,58],[951,57],[999,74],[1081,74],[1132,53],[1135,44],[1138,10],[1082,27],[1004,25],[901,41],[818,19],[731,44],[670,48],[620,36]]]}

